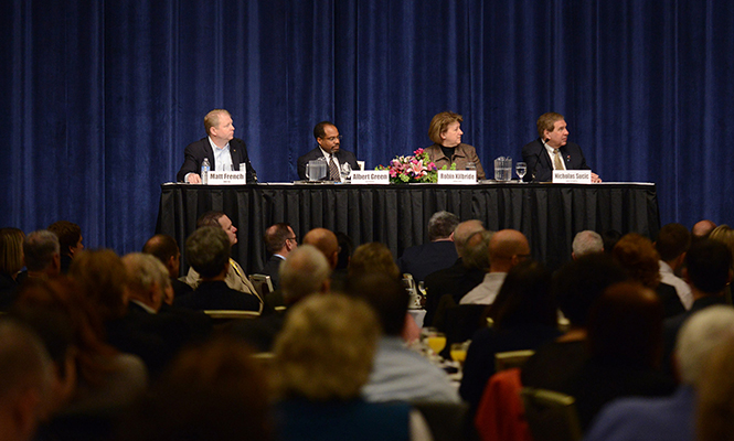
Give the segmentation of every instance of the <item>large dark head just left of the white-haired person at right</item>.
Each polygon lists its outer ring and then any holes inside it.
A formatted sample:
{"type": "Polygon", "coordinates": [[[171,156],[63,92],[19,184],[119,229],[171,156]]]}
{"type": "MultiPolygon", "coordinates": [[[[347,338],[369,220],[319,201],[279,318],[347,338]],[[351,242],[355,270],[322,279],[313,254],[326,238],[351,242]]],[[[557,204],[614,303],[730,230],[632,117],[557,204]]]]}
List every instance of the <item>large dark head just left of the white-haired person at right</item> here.
{"type": "Polygon", "coordinates": [[[588,315],[591,355],[609,366],[651,368],[662,354],[662,304],[637,282],[613,284],[588,315]]]}

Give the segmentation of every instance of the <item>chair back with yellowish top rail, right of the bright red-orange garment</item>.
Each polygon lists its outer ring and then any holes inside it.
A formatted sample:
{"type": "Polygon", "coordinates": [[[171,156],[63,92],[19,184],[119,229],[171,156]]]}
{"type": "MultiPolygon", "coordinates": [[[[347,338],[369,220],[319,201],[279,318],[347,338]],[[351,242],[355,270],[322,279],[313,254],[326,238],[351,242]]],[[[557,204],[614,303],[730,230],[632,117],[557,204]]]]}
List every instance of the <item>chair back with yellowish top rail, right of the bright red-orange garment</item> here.
{"type": "Polygon", "coordinates": [[[520,396],[525,408],[525,419],[535,440],[582,439],[574,397],[531,387],[523,387],[520,396]]]}

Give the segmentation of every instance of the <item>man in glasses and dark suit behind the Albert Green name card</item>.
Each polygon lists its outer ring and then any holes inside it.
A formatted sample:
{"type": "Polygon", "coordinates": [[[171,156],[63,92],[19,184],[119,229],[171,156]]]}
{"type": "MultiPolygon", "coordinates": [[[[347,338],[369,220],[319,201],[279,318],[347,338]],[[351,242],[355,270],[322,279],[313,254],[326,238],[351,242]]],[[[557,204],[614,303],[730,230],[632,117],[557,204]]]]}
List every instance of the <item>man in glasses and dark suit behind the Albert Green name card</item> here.
{"type": "Polygon", "coordinates": [[[321,121],[313,128],[313,138],[319,146],[310,152],[298,158],[298,178],[306,180],[306,164],[308,161],[325,158],[327,161],[328,181],[341,181],[339,170],[343,163],[352,166],[352,170],[359,170],[357,157],[354,153],[340,149],[341,136],[339,129],[330,121],[321,121]],[[333,163],[333,165],[332,165],[333,163]]]}

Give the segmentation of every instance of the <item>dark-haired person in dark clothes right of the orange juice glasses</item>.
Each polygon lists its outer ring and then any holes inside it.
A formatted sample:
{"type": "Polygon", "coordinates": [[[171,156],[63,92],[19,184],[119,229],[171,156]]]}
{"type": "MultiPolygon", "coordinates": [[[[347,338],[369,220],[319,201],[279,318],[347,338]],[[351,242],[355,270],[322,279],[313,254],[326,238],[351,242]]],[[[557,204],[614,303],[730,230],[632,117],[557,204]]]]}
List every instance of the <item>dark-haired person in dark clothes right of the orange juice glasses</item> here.
{"type": "Polygon", "coordinates": [[[459,394],[471,409],[494,374],[494,354],[534,349],[560,335],[556,310],[551,272],[543,265],[529,260],[509,270],[489,311],[493,326],[477,331],[467,352],[459,394]]]}

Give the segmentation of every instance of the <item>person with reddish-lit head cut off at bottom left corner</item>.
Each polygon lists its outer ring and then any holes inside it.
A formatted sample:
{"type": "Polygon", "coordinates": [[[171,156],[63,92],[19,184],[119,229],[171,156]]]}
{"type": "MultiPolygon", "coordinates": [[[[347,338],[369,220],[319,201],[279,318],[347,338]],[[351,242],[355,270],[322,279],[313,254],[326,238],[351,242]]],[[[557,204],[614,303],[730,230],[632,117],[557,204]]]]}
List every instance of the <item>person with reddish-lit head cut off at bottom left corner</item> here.
{"type": "Polygon", "coordinates": [[[0,439],[30,441],[44,417],[52,364],[26,325],[0,320],[0,439]]]}

